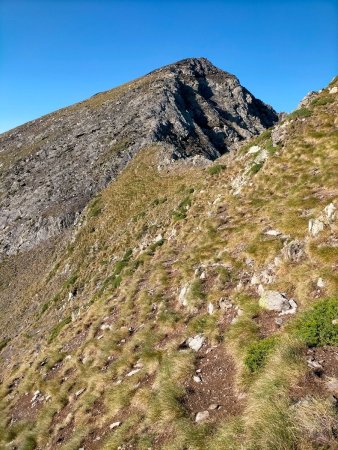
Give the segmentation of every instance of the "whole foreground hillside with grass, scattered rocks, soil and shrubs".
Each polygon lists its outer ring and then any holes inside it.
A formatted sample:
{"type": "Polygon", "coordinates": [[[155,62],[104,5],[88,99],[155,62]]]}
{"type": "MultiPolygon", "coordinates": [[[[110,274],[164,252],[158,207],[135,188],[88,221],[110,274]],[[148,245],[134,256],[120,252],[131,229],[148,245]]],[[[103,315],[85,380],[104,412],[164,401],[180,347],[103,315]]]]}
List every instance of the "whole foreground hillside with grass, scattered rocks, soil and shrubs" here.
{"type": "Polygon", "coordinates": [[[147,142],[4,260],[3,448],[337,448],[337,91],[213,163],[147,142]]]}

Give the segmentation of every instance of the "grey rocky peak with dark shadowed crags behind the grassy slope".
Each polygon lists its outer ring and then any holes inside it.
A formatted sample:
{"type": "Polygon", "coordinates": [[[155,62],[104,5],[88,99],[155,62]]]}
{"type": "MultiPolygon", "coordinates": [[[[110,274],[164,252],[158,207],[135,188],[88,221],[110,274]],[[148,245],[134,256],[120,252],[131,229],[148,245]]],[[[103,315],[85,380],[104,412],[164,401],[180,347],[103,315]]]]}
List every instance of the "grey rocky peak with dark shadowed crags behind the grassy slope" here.
{"type": "Polygon", "coordinates": [[[215,159],[278,121],[238,79],[188,59],[0,136],[0,256],[70,226],[142,147],[215,159]]]}

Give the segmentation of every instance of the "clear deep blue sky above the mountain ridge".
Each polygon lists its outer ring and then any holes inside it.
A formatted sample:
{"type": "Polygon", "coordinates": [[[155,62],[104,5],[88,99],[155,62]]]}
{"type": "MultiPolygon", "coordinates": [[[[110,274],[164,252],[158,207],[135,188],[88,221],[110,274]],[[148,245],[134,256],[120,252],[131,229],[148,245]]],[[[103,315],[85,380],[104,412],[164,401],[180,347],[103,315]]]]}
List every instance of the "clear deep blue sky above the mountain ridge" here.
{"type": "Polygon", "coordinates": [[[338,73],[337,22],[337,0],[0,0],[0,132],[199,56],[290,111],[338,73]]]}

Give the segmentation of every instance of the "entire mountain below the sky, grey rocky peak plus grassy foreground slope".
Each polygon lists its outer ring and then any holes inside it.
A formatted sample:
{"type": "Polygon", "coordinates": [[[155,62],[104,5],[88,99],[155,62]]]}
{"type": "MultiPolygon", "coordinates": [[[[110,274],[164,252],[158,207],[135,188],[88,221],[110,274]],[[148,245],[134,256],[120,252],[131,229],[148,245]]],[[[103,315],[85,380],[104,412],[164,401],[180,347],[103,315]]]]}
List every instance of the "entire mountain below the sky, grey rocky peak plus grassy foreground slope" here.
{"type": "Polygon", "coordinates": [[[337,449],[337,110],[187,59],[0,136],[1,449],[337,449]]]}

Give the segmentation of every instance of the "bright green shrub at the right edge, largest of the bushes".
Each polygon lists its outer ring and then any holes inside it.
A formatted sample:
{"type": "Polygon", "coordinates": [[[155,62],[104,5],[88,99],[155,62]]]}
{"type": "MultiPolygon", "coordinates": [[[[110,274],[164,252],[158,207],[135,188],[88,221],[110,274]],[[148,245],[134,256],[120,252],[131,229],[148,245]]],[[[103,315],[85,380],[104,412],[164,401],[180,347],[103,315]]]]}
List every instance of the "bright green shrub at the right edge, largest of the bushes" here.
{"type": "Polygon", "coordinates": [[[338,298],[318,301],[295,324],[295,334],[309,347],[338,345],[338,298]]]}

